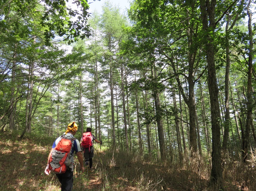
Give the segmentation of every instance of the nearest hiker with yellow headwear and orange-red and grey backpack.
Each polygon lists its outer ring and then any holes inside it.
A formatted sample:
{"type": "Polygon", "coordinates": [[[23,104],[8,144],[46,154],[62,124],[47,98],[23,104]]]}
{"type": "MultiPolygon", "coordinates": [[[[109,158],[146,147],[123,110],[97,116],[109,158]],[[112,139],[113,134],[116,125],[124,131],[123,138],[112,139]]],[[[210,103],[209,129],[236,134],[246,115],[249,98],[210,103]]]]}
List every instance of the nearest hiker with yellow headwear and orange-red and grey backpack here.
{"type": "Polygon", "coordinates": [[[61,183],[61,191],[71,191],[73,187],[73,169],[74,169],[74,152],[77,155],[80,170],[84,172],[83,155],[79,141],[74,138],[77,131],[75,122],[69,123],[67,131],[59,136],[53,143],[51,152],[48,156],[47,166],[44,170],[46,175],[53,171],[61,183]],[[69,153],[65,153],[67,151],[69,153]],[[54,158],[56,157],[56,159],[54,158]],[[61,161],[58,161],[62,157],[61,161]],[[56,162],[58,161],[58,162],[56,162]],[[58,168],[59,167],[59,168],[58,168]]]}

